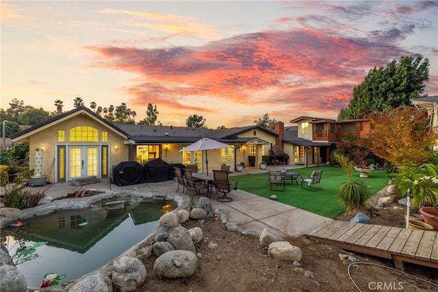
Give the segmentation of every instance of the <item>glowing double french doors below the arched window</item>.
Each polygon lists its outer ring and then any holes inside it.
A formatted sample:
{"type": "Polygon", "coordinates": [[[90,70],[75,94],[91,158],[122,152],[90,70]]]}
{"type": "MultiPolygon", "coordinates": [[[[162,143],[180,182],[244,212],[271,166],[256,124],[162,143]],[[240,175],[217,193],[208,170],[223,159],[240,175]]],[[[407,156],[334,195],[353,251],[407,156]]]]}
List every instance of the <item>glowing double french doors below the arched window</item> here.
{"type": "Polygon", "coordinates": [[[68,180],[99,177],[99,146],[68,147],[68,180]]]}

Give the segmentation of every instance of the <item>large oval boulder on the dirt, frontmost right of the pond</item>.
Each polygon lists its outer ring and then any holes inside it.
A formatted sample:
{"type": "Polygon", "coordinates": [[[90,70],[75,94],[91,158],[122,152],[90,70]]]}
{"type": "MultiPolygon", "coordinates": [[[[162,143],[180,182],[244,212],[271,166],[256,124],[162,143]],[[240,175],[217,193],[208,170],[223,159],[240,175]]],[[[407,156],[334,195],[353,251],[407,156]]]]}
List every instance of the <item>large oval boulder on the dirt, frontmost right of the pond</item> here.
{"type": "Polygon", "coordinates": [[[153,265],[158,278],[188,278],[198,268],[198,257],[187,250],[173,250],[162,254],[153,265]]]}

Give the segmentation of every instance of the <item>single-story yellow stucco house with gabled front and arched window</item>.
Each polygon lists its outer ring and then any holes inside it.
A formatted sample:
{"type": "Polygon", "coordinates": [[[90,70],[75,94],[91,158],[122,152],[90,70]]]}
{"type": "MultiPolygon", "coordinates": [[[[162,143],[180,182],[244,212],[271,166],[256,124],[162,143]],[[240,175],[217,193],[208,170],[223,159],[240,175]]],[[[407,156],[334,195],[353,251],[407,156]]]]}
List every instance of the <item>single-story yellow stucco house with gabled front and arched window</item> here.
{"type": "Polygon", "coordinates": [[[276,132],[258,125],[209,130],[193,127],[157,125],[116,125],[99,117],[85,106],[47,119],[11,136],[12,143],[27,141],[29,165],[36,160],[42,165],[42,175],[49,182],[68,182],[77,178],[110,178],[115,165],[124,161],[146,163],[155,158],[170,164],[196,164],[206,167],[203,151],[179,151],[209,137],[228,148],[208,150],[209,168],[235,165],[255,156],[255,167],[275,145],[276,132]],[[36,159],[36,149],[42,149],[42,161],[36,159]],[[35,152],[34,152],[35,151],[35,152]]]}

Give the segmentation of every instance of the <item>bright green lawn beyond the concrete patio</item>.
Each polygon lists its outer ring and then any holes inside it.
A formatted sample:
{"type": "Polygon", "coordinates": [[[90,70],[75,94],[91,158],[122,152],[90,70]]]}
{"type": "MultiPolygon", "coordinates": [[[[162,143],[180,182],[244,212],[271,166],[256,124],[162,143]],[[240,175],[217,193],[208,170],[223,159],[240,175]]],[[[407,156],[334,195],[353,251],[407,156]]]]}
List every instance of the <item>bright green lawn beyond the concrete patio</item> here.
{"type": "MultiPolygon", "coordinates": [[[[341,167],[307,167],[303,169],[292,169],[292,171],[300,173],[298,184],[300,184],[301,176],[307,178],[312,171],[322,169],[321,183],[316,184],[320,191],[308,191],[308,186],[302,189],[295,183],[292,185],[290,180],[286,181],[285,191],[282,192],[283,186],[272,186],[272,191],[269,191],[268,173],[238,175],[230,178],[231,181],[237,181],[237,186],[243,191],[253,193],[261,197],[269,198],[271,195],[278,197],[277,201],[284,204],[307,210],[324,217],[335,218],[345,212],[344,207],[339,205],[335,198],[335,188],[348,180],[347,175],[342,171],[341,167]]],[[[359,172],[355,171],[354,178],[359,178],[359,172]]],[[[389,182],[387,173],[384,170],[375,170],[370,172],[370,177],[365,178],[367,186],[371,186],[371,195],[376,194],[389,182]]]]}

